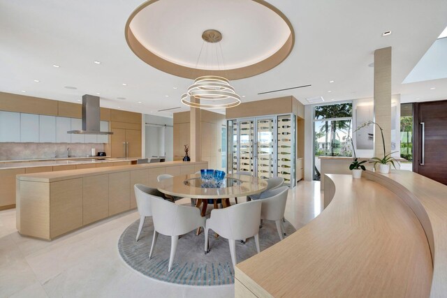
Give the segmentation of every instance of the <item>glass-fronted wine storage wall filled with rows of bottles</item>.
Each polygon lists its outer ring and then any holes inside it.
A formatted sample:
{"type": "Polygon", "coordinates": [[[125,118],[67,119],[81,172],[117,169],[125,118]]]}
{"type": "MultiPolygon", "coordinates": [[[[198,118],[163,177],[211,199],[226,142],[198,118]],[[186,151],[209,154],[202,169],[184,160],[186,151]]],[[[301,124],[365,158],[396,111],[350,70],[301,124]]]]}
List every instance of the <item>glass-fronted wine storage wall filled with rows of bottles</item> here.
{"type": "Polygon", "coordinates": [[[295,186],[294,114],[228,120],[227,128],[229,173],[279,176],[295,186]]]}

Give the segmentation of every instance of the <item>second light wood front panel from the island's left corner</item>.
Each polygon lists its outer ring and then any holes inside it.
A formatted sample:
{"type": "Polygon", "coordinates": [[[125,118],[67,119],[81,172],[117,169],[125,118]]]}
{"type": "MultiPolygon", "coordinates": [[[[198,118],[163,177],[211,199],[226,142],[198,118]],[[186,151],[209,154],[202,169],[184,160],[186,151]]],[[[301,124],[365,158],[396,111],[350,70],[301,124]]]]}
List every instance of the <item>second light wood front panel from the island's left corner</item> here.
{"type": "Polygon", "coordinates": [[[108,174],[84,177],[82,180],[82,225],[109,216],[108,174]]]}

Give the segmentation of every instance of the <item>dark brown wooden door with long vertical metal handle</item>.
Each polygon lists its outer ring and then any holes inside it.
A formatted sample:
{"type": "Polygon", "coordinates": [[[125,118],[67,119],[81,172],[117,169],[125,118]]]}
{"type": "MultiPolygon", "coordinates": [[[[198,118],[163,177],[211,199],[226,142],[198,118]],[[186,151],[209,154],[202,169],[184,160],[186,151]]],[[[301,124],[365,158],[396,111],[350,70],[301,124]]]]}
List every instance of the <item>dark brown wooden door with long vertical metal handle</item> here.
{"type": "Polygon", "coordinates": [[[447,100],[415,106],[414,170],[447,185],[447,100]]]}

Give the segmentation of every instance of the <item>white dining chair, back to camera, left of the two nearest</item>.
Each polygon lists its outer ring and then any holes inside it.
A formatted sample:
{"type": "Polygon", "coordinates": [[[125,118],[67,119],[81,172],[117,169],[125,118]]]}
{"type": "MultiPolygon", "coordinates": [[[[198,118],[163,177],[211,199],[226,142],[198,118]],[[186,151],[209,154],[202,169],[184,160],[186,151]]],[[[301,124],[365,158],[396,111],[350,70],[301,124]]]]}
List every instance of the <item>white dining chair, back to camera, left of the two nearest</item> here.
{"type": "Polygon", "coordinates": [[[149,259],[152,258],[158,234],[170,236],[170,257],[168,271],[173,268],[175,251],[179,235],[186,234],[198,227],[205,229],[205,217],[200,216],[196,207],[177,205],[166,200],[152,198],[152,220],[154,221],[154,239],[152,239],[149,259]]]}

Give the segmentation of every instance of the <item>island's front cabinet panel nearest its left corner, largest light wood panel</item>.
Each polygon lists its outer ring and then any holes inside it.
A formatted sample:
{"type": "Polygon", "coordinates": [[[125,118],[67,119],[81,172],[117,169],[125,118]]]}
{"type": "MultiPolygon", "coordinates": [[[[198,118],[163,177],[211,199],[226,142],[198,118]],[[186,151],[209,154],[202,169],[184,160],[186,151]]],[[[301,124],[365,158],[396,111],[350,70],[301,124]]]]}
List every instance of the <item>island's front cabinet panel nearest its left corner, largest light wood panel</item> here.
{"type": "Polygon", "coordinates": [[[52,238],[82,227],[82,178],[53,182],[50,206],[52,238]]]}

